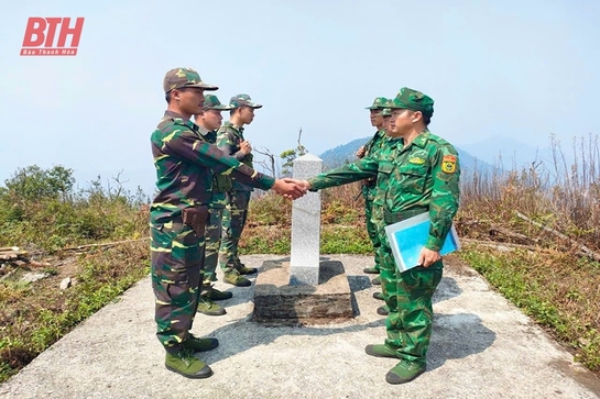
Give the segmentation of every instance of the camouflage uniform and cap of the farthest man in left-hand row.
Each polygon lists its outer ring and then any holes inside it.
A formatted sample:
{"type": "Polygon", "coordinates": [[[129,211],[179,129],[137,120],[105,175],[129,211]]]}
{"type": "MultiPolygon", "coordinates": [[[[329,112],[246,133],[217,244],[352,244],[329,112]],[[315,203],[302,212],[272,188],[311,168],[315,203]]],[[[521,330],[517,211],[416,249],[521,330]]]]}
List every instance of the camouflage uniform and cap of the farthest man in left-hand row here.
{"type": "MultiPolygon", "coordinates": [[[[232,108],[251,107],[261,108],[261,104],[254,103],[250,96],[238,95],[229,101],[232,108]]],[[[244,141],[243,128],[236,126],[230,121],[223,123],[217,133],[217,146],[226,154],[233,156],[242,164],[253,167],[252,153],[243,154],[240,152],[240,143],[244,141]]],[[[241,181],[232,179],[232,187],[226,192],[227,206],[222,213],[222,239],[219,248],[219,266],[226,277],[228,275],[238,275],[243,269],[238,254],[238,244],[246,225],[248,217],[248,207],[252,187],[241,181]]]]}

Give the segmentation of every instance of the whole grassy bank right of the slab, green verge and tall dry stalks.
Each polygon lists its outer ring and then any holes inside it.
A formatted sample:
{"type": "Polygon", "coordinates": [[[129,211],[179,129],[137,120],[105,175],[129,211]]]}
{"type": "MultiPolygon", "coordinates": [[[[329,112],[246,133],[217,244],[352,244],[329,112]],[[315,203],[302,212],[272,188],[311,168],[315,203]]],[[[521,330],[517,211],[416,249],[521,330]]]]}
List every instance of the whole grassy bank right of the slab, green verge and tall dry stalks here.
{"type": "Polygon", "coordinates": [[[574,151],[572,166],[553,141],[547,165],[467,177],[456,224],[465,239],[526,245],[510,253],[468,245],[460,256],[600,373],[598,136],[575,141],[574,151]]]}

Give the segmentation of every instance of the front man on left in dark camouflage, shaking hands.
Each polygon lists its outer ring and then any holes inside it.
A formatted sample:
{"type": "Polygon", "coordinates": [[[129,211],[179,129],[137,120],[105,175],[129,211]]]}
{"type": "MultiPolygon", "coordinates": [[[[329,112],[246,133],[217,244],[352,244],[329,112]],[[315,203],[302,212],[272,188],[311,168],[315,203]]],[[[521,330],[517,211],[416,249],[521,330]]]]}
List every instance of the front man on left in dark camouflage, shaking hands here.
{"type": "Polygon", "coordinates": [[[189,118],[201,111],[204,91],[217,87],[205,84],[197,71],[172,69],[163,88],[167,110],[151,135],[159,189],[150,208],[156,336],[166,350],[167,369],[189,378],[207,378],[212,370],[195,353],[214,350],[219,343],[196,337],[189,330],[200,292],[212,170],[290,198],[302,197],[305,189],[290,179],[260,174],[200,137],[189,118]]]}

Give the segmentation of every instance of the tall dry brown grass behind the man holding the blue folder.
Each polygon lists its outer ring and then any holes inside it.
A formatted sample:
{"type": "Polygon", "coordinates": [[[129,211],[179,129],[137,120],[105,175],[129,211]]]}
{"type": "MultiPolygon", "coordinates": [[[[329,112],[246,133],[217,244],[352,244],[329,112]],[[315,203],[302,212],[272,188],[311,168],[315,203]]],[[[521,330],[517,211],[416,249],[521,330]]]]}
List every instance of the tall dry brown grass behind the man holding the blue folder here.
{"type": "Polygon", "coordinates": [[[527,169],[506,175],[465,176],[457,215],[462,235],[489,239],[502,228],[545,246],[566,248],[570,245],[569,241],[557,240],[556,234],[517,217],[520,212],[571,241],[600,251],[598,136],[576,141],[574,147],[576,163],[571,166],[565,163],[559,144],[553,141],[550,162],[536,162],[527,169]]]}

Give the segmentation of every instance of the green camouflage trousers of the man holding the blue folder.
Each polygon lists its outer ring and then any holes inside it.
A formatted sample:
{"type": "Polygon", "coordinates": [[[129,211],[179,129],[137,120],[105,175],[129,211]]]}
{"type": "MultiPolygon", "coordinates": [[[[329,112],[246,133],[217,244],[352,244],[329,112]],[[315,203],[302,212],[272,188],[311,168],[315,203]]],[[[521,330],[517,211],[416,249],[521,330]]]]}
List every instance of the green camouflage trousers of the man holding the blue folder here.
{"type": "Polygon", "coordinates": [[[404,273],[396,268],[385,235],[381,237],[381,289],[390,313],[385,319],[385,344],[400,357],[425,364],[434,317],[432,297],[441,280],[441,261],[404,273]]]}

